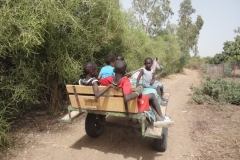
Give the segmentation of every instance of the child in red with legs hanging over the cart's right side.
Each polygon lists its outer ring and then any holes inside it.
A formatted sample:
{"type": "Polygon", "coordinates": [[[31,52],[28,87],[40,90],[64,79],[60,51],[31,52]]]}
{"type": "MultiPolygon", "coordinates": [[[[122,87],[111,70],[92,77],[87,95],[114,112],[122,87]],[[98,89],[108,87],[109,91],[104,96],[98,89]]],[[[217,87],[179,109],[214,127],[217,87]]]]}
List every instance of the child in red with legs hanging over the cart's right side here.
{"type": "Polygon", "coordinates": [[[115,76],[109,76],[100,80],[100,84],[104,86],[109,86],[113,84],[118,88],[122,88],[124,101],[130,101],[132,99],[137,99],[138,111],[150,110],[149,104],[153,108],[153,113],[156,117],[156,122],[154,122],[155,127],[170,127],[174,124],[172,120],[168,117],[163,116],[160,105],[153,93],[142,94],[142,87],[138,87],[137,91],[132,93],[132,85],[130,80],[125,76],[127,64],[125,61],[117,61],[114,65],[115,76]]]}

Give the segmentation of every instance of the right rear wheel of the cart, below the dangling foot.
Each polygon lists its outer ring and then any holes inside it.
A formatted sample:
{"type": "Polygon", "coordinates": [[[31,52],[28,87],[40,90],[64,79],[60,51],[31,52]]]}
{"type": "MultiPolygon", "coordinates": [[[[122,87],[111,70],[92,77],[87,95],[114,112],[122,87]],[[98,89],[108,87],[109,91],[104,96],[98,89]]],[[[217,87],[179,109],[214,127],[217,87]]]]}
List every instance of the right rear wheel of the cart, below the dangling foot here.
{"type": "Polygon", "coordinates": [[[168,128],[162,129],[162,139],[154,139],[154,148],[159,152],[165,152],[167,150],[167,137],[168,128]]]}

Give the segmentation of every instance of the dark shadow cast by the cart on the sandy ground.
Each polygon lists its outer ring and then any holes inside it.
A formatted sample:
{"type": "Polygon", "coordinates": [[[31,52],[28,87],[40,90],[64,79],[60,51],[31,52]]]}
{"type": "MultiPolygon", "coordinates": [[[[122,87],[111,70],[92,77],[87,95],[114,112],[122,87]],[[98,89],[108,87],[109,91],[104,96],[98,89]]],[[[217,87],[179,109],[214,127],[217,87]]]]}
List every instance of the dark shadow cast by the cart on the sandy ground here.
{"type": "Polygon", "coordinates": [[[134,125],[130,127],[122,118],[117,119],[121,123],[107,120],[104,132],[98,138],[84,135],[72,144],[71,148],[78,150],[82,148],[95,149],[105,154],[121,154],[124,158],[131,157],[142,160],[153,160],[162,156],[161,152],[154,149],[153,138],[142,137],[140,127],[134,125]]]}

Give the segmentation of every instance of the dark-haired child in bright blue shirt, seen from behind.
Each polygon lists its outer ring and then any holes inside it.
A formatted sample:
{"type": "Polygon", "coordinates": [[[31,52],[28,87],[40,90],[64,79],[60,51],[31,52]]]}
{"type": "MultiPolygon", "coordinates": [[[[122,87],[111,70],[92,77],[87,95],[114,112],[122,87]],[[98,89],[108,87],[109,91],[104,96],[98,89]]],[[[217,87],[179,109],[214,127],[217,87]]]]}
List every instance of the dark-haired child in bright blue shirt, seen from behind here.
{"type": "Polygon", "coordinates": [[[116,61],[116,57],[112,54],[108,54],[105,58],[106,66],[104,66],[98,75],[98,79],[106,78],[108,76],[114,76],[115,73],[113,72],[114,64],[116,61]]]}

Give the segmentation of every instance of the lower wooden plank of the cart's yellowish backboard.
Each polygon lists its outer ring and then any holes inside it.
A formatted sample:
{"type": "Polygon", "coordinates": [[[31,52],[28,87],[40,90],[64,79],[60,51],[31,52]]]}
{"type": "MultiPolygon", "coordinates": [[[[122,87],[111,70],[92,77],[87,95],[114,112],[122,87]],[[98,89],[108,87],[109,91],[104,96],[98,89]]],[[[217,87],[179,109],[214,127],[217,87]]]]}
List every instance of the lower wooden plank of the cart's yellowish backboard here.
{"type": "MultiPolygon", "coordinates": [[[[92,101],[94,96],[78,96],[81,108],[88,109],[89,107],[96,110],[125,112],[123,97],[99,97],[96,102],[92,101]]],[[[74,95],[69,95],[72,107],[78,108],[74,95]]],[[[128,112],[138,113],[137,100],[128,101],[128,112]]]]}

